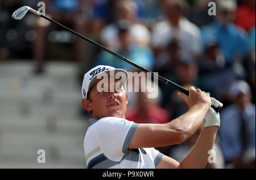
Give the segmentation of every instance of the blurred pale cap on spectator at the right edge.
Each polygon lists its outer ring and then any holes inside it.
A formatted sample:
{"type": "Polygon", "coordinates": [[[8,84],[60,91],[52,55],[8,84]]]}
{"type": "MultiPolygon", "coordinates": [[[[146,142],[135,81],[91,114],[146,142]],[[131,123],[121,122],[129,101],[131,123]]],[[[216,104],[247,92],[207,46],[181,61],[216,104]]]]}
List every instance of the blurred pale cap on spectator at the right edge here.
{"type": "Polygon", "coordinates": [[[248,85],[247,82],[243,80],[239,80],[236,82],[233,82],[232,85],[230,86],[229,93],[232,98],[236,98],[238,94],[250,94],[250,86],[248,85]]]}

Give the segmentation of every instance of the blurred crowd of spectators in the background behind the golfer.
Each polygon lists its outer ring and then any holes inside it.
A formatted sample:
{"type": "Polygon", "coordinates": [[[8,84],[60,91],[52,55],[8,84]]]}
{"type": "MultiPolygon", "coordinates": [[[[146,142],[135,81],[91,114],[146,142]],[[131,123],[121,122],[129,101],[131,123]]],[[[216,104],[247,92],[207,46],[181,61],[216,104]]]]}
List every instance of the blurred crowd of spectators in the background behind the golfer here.
{"type": "MultiPolygon", "coordinates": [[[[23,23],[10,19],[23,5],[38,9],[39,1],[0,2],[0,60],[31,58],[34,73],[42,74],[52,58],[49,54],[55,53],[79,65],[80,79],[100,64],[138,71],[43,18],[28,14],[23,23]]],[[[200,88],[221,101],[221,127],[213,148],[217,160],[207,167],[255,168],[255,0],[43,2],[46,15],[57,22],[164,78],[200,88]]],[[[173,87],[158,85],[156,99],[148,99],[147,92],[130,94],[128,120],[167,123],[188,110],[173,87]]],[[[183,144],[159,149],[181,160],[202,129],[183,144]]]]}

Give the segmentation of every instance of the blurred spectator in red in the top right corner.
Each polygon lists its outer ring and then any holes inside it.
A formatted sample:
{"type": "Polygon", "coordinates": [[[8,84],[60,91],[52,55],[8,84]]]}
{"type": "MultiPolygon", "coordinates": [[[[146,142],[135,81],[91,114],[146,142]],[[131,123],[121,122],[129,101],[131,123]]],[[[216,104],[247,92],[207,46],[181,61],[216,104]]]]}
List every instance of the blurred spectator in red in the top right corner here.
{"type": "Polygon", "coordinates": [[[255,26],[255,0],[245,0],[237,7],[234,23],[247,32],[255,26]]]}

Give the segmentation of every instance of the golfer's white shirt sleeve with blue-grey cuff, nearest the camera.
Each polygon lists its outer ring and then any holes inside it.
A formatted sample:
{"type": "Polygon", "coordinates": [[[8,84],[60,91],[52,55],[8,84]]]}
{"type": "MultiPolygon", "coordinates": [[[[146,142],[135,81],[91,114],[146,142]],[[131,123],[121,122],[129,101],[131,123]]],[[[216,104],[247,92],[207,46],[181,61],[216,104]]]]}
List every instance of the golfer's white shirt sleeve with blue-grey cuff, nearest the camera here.
{"type": "Polygon", "coordinates": [[[133,136],[137,123],[121,118],[102,118],[95,128],[100,147],[107,158],[120,161],[133,136]]]}

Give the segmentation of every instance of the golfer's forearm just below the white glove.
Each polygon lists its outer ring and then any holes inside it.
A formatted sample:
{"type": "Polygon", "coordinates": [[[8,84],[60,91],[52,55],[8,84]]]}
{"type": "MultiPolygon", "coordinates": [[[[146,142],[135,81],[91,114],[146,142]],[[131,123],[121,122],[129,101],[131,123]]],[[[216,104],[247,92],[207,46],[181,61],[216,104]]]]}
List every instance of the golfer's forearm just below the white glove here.
{"type": "Polygon", "coordinates": [[[205,127],[196,145],[188,155],[180,162],[182,168],[205,168],[209,157],[209,150],[212,149],[218,127],[216,125],[205,127]]]}

